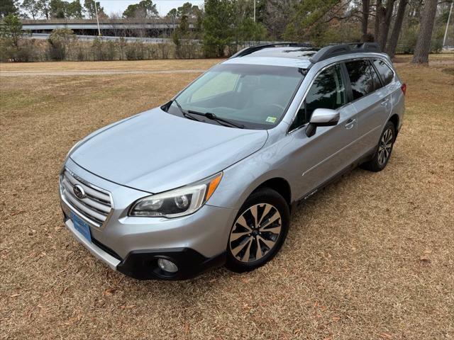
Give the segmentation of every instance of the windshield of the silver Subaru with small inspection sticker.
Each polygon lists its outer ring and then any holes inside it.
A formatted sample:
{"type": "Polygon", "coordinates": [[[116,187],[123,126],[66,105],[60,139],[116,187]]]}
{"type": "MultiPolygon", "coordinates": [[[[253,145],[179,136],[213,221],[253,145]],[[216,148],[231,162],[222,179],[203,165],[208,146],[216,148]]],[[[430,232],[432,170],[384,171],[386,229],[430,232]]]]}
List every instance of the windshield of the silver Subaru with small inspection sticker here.
{"type": "Polygon", "coordinates": [[[184,89],[167,112],[184,115],[179,104],[186,112],[209,113],[248,129],[272,128],[287,111],[303,78],[296,67],[220,64],[184,89]]]}

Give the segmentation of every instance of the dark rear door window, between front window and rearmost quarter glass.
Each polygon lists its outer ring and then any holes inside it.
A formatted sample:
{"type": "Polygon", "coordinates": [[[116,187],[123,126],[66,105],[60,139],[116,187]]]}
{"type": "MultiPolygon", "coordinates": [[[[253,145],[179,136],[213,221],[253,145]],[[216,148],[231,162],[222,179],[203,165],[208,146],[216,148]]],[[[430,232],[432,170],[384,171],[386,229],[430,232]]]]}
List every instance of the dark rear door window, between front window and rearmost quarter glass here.
{"type": "Polygon", "coordinates": [[[380,87],[377,74],[367,60],[345,62],[345,66],[352,85],[353,100],[370,94],[380,87]]]}

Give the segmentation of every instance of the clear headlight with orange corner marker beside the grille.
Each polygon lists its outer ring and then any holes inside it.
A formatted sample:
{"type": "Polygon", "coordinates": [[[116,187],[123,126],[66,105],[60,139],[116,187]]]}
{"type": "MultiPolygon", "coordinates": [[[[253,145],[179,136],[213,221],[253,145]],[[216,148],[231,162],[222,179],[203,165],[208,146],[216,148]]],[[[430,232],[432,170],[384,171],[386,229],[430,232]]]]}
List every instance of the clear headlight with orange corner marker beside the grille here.
{"type": "Polygon", "coordinates": [[[180,217],[201,208],[213,195],[222,178],[222,172],[189,186],[157,195],[140,198],[133,203],[130,216],[180,217]]]}

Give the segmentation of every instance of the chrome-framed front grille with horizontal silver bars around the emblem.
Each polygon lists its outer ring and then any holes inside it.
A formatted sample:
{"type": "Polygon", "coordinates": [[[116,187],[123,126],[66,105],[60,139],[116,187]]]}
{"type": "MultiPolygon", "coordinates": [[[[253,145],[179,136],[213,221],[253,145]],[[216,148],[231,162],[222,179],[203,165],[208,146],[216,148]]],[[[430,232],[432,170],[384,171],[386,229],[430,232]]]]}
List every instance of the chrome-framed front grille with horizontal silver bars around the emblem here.
{"type": "Polygon", "coordinates": [[[93,186],[92,184],[80,179],[65,169],[60,177],[60,193],[63,200],[70,208],[84,217],[87,222],[96,227],[106,222],[112,210],[111,194],[109,191],[93,186]],[[83,188],[85,197],[78,198],[74,193],[74,186],[83,188]]]}

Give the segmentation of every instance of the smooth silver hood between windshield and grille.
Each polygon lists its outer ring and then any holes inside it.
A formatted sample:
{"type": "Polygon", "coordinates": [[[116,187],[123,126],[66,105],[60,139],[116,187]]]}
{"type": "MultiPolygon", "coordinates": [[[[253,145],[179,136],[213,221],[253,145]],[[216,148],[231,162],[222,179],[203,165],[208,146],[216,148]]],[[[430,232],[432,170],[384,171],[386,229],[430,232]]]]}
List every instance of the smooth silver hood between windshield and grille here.
{"type": "Polygon", "coordinates": [[[196,122],[155,108],[92,133],[70,158],[109,181],[160,193],[199,181],[257,152],[266,130],[196,122]]]}

